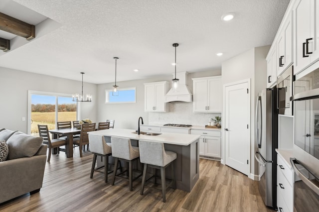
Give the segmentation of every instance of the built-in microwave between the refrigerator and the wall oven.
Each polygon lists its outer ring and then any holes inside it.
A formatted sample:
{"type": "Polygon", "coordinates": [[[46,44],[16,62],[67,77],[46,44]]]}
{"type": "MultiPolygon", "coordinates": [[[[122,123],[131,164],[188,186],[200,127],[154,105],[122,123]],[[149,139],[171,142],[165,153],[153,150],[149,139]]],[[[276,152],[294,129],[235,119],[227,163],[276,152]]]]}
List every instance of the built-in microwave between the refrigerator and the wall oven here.
{"type": "Polygon", "coordinates": [[[292,115],[293,105],[293,66],[290,66],[277,79],[277,108],[279,114],[292,115]]]}

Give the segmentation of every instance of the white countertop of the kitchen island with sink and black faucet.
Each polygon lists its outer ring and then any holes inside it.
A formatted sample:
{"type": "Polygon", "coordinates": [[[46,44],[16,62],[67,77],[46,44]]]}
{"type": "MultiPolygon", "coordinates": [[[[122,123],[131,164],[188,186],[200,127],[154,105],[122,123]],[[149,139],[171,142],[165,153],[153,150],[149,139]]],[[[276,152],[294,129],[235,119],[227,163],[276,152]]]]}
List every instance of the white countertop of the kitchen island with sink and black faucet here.
{"type": "MultiPolygon", "coordinates": [[[[150,125],[148,125],[150,126],[150,125]]],[[[154,125],[152,125],[154,126],[154,125]]],[[[184,128],[184,127],[183,127],[184,128]]],[[[188,146],[192,142],[196,141],[200,135],[192,135],[192,134],[180,134],[180,133],[168,133],[168,132],[160,132],[160,135],[138,135],[135,132],[135,129],[103,129],[88,132],[89,134],[95,135],[104,135],[104,136],[118,136],[118,137],[126,137],[134,140],[150,140],[150,141],[157,141],[161,143],[167,144],[175,144],[175,145],[182,145],[188,146]]]]}

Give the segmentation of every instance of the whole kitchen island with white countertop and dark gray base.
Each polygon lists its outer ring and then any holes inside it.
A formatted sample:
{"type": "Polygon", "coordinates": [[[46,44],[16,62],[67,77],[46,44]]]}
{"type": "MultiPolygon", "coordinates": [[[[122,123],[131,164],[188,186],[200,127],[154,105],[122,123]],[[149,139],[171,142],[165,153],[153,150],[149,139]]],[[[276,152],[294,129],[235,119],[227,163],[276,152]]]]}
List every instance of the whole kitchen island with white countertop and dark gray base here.
{"type": "MultiPolygon", "coordinates": [[[[112,136],[130,138],[132,145],[138,146],[139,140],[150,140],[164,143],[165,150],[177,153],[174,160],[176,188],[190,192],[199,179],[199,135],[160,132],[159,135],[138,135],[133,129],[104,129],[88,132],[103,135],[106,142],[112,136]]],[[[170,169],[166,169],[166,177],[170,178],[170,169]]]]}

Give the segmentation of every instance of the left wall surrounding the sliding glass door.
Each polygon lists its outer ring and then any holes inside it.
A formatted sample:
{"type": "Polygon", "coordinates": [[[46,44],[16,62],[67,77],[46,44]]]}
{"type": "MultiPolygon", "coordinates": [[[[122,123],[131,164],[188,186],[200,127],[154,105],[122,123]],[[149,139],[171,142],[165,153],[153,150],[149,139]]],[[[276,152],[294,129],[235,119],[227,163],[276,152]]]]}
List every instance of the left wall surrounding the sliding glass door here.
{"type": "MultiPolygon", "coordinates": [[[[84,83],[83,86],[84,94],[90,93],[93,100],[81,103],[80,118],[96,121],[97,85],[84,83]]],[[[28,119],[28,90],[74,94],[81,92],[81,82],[0,67],[0,128],[27,132],[27,121],[22,121],[22,117],[28,119]]]]}

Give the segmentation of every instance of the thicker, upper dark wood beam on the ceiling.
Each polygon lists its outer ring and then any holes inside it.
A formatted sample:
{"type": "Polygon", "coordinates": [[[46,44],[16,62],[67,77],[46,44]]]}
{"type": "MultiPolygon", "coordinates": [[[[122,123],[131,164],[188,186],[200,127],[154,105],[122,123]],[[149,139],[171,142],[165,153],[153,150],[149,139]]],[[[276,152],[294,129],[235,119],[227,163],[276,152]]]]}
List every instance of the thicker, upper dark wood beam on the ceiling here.
{"type": "Polygon", "coordinates": [[[0,30],[31,40],[35,38],[35,26],[0,12],[0,30]]]}

